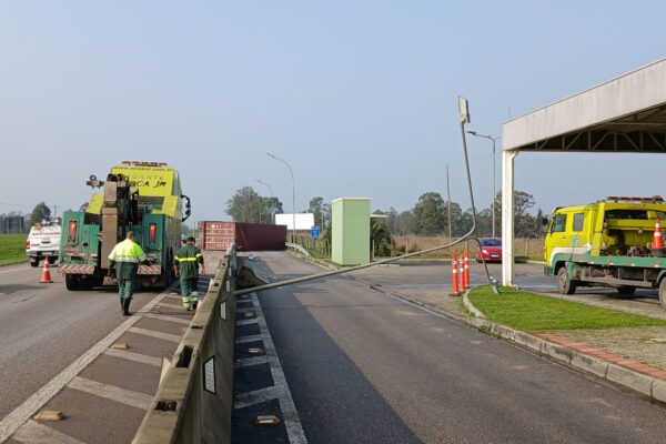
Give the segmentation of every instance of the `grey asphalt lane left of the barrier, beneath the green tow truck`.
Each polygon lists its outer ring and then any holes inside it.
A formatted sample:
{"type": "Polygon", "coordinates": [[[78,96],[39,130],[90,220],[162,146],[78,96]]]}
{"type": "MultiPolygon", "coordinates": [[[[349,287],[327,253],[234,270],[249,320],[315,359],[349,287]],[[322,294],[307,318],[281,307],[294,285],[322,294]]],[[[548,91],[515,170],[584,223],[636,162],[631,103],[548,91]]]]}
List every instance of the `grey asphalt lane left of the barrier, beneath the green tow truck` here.
{"type": "MultiPolygon", "coordinates": [[[[115,289],[68,292],[54,268],[52,284],[40,275],[24,264],[0,268],[0,418],[124,320],[115,289]]],[[[137,293],[131,310],[158,293],[137,293]]]]}

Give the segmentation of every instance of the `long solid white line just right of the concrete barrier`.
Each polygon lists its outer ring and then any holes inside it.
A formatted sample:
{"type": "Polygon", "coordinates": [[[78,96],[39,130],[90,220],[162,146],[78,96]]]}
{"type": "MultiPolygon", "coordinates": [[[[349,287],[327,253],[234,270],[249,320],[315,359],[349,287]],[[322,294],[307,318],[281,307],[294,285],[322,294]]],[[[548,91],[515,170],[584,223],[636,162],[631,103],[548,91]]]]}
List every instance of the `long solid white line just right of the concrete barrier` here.
{"type": "Polygon", "coordinates": [[[275,345],[273,345],[273,339],[271,337],[271,333],[269,332],[266,320],[264,319],[261,305],[259,304],[259,297],[256,297],[256,293],[252,293],[252,305],[256,310],[259,330],[263,339],[264,352],[266,353],[269,362],[271,363],[271,374],[273,375],[273,382],[280,393],[280,407],[282,408],[282,414],[284,415],[284,426],[286,427],[289,442],[291,444],[307,444],[305,433],[303,432],[303,427],[301,426],[301,418],[299,417],[299,412],[296,411],[294,400],[291,396],[291,392],[289,390],[286,379],[284,377],[284,372],[282,371],[280,359],[278,357],[278,353],[275,352],[275,345]]]}

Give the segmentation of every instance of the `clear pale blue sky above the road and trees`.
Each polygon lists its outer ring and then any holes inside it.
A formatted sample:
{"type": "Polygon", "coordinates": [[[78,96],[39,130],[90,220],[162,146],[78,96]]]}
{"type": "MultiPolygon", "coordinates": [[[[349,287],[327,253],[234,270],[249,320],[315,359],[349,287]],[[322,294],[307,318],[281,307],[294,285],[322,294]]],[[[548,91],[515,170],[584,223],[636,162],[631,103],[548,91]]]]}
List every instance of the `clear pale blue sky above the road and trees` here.
{"type": "MultiPolygon", "coordinates": [[[[78,209],[122,160],[180,171],[194,220],[225,220],[266,182],[413,208],[468,208],[457,95],[470,130],[502,123],[663,58],[666,3],[640,1],[0,1],[0,213],[78,209]]],[[[491,142],[468,139],[490,206],[491,142]]],[[[497,182],[500,183],[500,143],[497,182]]],[[[546,213],[665,194],[658,154],[521,153],[517,190],[546,213]]]]}

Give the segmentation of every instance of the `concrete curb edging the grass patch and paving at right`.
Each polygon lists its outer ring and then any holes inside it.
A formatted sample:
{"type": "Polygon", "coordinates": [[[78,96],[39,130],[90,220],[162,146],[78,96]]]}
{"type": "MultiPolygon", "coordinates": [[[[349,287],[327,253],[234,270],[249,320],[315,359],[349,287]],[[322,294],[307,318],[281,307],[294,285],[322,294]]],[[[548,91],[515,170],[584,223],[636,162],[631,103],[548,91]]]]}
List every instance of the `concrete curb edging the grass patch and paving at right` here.
{"type": "Polygon", "coordinates": [[[564,363],[583,373],[593,374],[614,384],[622,385],[634,392],[646,395],[652,400],[666,403],[666,380],[636,372],[609,361],[582,353],[575,349],[488,321],[483,313],[474,306],[472,301],[470,301],[467,297],[468,293],[470,291],[463,296],[465,307],[475,315],[476,313],[481,314],[481,316],[477,315],[477,317],[462,319],[462,321],[468,325],[475,326],[481,331],[490,332],[491,335],[521,345],[541,356],[564,363]]]}

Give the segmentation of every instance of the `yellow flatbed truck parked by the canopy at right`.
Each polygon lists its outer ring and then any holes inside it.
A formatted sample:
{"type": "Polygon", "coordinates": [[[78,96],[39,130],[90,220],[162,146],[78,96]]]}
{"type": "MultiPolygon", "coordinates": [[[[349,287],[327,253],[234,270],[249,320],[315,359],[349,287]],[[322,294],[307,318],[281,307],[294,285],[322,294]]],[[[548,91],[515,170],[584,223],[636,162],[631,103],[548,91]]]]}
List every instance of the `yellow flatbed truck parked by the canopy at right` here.
{"type": "Polygon", "coordinates": [[[656,226],[665,219],[660,196],[610,196],[556,208],[547,221],[545,274],[557,278],[563,294],[578,286],[609,286],[624,295],[658,289],[666,309],[666,252],[653,248],[656,226]]]}

